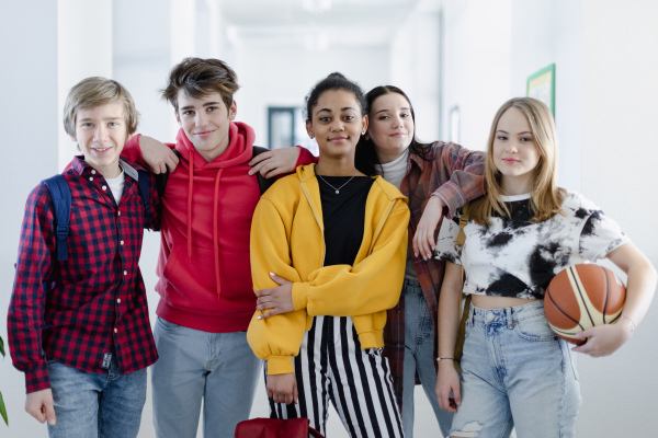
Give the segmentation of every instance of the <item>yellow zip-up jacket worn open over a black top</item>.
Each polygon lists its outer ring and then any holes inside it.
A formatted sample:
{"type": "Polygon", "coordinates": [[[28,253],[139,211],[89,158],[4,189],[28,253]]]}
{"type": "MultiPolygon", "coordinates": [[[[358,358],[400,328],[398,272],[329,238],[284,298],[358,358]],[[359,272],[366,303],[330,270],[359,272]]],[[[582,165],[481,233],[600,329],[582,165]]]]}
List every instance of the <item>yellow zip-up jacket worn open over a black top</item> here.
{"type": "Polygon", "coordinates": [[[322,266],[322,208],[315,164],[277,181],[263,194],[251,222],[253,290],[292,281],[295,311],[266,320],[256,311],[247,331],[251,349],[268,360],[269,374],[294,372],[313,316],[352,316],[362,348],[384,346],[386,310],[399,300],[407,257],[407,198],[377,176],[367,195],[363,242],[354,266],[322,266]]]}

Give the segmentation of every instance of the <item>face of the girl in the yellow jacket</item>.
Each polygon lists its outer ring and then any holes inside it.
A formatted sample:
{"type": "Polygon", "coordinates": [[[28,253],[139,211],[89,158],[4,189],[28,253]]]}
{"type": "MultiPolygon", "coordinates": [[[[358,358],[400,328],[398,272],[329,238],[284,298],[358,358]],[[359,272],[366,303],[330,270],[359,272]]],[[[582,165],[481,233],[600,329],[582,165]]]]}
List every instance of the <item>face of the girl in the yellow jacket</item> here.
{"type": "Polygon", "coordinates": [[[316,138],[320,157],[347,159],[354,162],[361,135],[367,129],[367,116],[351,91],[328,90],[319,95],[306,120],[306,130],[316,138]]]}

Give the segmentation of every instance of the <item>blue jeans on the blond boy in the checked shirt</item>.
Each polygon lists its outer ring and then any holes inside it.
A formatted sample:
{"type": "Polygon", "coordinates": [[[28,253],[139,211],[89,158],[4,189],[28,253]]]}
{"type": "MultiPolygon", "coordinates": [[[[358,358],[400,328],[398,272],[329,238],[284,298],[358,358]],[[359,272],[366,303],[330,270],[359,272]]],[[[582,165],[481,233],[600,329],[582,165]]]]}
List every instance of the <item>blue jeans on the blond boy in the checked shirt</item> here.
{"type": "Polygon", "coordinates": [[[57,424],[50,438],[136,437],[146,402],[146,368],[118,373],[116,358],[104,373],[48,361],[57,424]]]}

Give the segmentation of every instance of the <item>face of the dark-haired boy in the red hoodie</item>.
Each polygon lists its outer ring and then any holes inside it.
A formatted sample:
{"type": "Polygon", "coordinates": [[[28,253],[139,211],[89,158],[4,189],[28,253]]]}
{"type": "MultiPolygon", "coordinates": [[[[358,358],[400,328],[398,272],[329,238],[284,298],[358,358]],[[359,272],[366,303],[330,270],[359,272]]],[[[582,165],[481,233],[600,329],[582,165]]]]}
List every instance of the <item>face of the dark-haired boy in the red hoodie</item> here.
{"type": "Polygon", "coordinates": [[[207,162],[223,154],[229,143],[230,120],[236,118],[236,102],[227,108],[218,92],[194,99],[180,90],[178,105],[175,118],[196,152],[207,162]]]}

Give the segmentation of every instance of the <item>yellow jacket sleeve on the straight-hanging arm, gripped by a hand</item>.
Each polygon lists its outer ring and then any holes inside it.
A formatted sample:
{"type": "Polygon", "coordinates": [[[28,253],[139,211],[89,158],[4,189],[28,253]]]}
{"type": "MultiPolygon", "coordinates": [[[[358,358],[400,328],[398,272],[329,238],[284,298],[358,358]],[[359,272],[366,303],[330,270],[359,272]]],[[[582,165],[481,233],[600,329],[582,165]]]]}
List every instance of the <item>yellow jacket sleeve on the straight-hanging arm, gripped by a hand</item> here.
{"type": "MultiPolygon", "coordinates": [[[[288,221],[290,222],[290,221],[288,221]]],[[[284,223],[280,212],[268,199],[261,199],[251,222],[251,278],[253,289],[261,290],[279,286],[270,272],[290,281],[300,281],[298,273],[291,266],[288,239],[291,224],[284,223]]],[[[254,355],[268,360],[269,374],[294,372],[293,357],[306,330],[306,311],[282,313],[259,320],[263,311],[256,311],[247,331],[247,341],[254,355]]]]}

